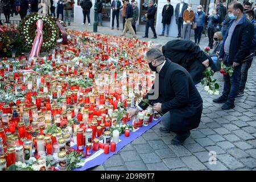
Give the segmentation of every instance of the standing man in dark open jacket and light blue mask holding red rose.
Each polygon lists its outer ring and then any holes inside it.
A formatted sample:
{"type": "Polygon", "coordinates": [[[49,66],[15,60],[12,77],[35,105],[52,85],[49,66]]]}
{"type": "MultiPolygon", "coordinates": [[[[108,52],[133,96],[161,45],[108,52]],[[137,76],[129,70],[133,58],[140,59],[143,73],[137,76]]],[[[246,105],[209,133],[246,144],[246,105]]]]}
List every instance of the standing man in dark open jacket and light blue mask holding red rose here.
{"type": "Polygon", "coordinates": [[[231,2],[229,12],[232,20],[224,37],[219,58],[226,66],[233,67],[234,70],[231,77],[229,74],[223,75],[222,96],[213,100],[215,103],[224,103],[221,107],[223,110],[234,108],[234,100],[240,88],[241,62],[249,55],[254,35],[253,24],[243,15],[241,3],[231,2]]]}

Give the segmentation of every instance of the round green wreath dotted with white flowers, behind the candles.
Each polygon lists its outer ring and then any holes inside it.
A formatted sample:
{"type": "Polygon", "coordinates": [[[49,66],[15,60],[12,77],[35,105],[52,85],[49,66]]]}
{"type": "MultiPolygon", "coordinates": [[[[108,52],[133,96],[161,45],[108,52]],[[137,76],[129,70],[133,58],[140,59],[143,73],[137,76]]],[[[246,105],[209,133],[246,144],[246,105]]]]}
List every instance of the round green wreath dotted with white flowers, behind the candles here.
{"type": "Polygon", "coordinates": [[[56,40],[59,38],[59,27],[57,27],[55,20],[51,16],[42,16],[37,13],[27,15],[19,24],[18,31],[22,37],[24,45],[31,49],[36,36],[36,22],[43,20],[43,43],[41,52],[49,52],[55,48],[56,40]]]}

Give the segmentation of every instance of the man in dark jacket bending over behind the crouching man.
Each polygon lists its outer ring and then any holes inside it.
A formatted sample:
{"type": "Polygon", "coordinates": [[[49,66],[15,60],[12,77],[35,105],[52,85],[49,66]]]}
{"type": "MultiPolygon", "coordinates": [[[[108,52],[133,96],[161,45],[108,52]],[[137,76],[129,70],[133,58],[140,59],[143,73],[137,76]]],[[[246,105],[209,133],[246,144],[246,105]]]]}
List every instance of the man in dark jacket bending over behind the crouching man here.
{"type": "Polygon", "coordinates": [[[165,57],[187,69],[194,84],[198,84],[204,78],[205,68],[210,66],[214,72],[218,71],[212,59],[191,40],[176,39],[164,46],[154,44],[152,47],[159,48],[165,57]]]}

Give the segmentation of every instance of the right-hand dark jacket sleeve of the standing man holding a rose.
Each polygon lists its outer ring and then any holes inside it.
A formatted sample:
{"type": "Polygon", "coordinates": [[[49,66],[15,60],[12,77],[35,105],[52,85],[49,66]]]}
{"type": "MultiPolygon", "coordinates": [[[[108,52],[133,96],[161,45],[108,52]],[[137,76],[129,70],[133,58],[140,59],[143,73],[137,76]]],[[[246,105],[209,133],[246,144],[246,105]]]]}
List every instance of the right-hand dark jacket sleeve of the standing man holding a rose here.
{"type": "Polygon", "coordinates": [[[251,40],[253,40],[254,36],[254,26],[253,24],[248,24],[244,27],[242,38],[241,38],[241,46],[238,49],[238,52],[236,53],[236,56],[234,56],[234,62],[235,63],[241,63],[241,61],[247,56],[248,49],[250,49],[251,46],[251,40]]]}

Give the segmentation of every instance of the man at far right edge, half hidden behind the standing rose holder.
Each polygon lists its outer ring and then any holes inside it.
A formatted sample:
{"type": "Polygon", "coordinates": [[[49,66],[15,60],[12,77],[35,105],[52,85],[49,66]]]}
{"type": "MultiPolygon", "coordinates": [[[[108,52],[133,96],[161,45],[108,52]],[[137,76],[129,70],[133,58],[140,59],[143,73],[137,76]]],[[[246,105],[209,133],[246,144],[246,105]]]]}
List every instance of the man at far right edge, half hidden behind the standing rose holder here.
{"type": "Polygon", "coordinates": [[[251,21],[254,25],[254,38],[253,41],[251,42],[251,47],[250,47],[250,52],[249,56],[247,56],[246,60],[242,63],[242,68],[241,68],[241,78],[240,78],[240,89],[237,94],[237,97],[243,96],[243,90],[245,90],[245,84],[247,81],[247,75],[248,75],[248,70],[251,67],[251,62],[253,62],[253,56],[256,48],[256,20],[254,19],[254,11],[253,10],[246,10],[245,11],[246,18],[251,21]]]}

